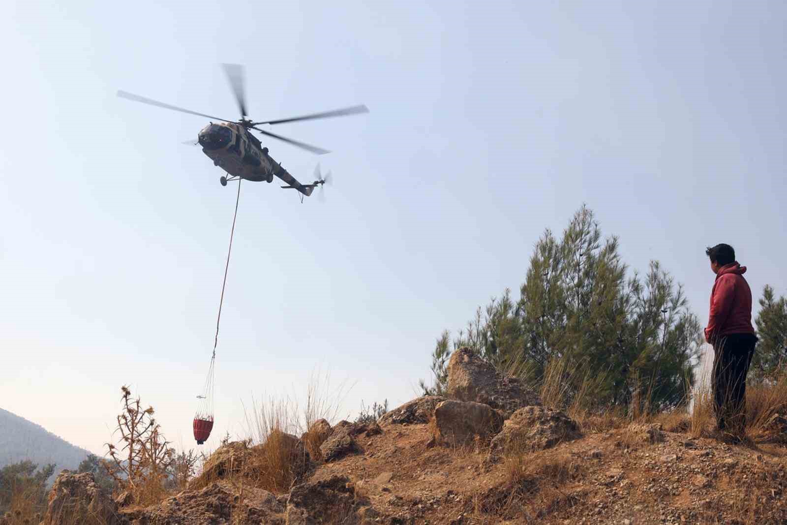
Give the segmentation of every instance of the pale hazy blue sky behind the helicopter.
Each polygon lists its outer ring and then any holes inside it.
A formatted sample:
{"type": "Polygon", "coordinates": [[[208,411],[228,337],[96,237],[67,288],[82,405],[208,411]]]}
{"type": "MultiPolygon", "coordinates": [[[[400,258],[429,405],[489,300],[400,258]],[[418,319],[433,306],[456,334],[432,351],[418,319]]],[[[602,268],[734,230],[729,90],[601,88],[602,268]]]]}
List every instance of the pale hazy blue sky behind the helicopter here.
{"type": "MultiPolygon", "coordinates": [[[[444,328],[518,290],[545,227],[582,202],[624,260],[657,258],[704,323],[704,247],[785,294],[784,2],[16,2],[0,17],[0,406],[103,452],[120,385],[191,446],[235,187],[199,148],[236,118],[327,203],[242,187],[216,430],[312,370],[354,414],[414,397],[444,328]],[[166,3],[168,6],[163,6],[166,3]]],[[[518,297],[518,293],[515,292],[518,297]]],[[[2,429],[0,429],[2,431],[2,429]]]]}

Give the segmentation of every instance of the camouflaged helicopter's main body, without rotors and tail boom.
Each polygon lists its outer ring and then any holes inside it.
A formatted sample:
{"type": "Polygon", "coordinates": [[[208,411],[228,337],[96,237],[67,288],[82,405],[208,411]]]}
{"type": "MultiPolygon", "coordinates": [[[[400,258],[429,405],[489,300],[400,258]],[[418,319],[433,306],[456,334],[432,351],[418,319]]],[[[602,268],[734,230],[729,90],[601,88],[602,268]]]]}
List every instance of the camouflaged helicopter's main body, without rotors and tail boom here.
{"type": "Polygon", "coordinates": [[[230,176],[269,183],[282,169],[254,135],[239,124],[210,123],[199,132],[199,144],[213,164],[230,176]]]}

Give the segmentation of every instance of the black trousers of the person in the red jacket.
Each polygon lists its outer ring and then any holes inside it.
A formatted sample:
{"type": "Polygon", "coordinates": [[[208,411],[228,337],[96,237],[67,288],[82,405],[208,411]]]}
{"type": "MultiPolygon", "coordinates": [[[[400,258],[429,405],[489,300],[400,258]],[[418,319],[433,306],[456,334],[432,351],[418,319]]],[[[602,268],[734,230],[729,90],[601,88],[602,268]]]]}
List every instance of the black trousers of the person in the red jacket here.
{"type": "Polygon", "coordinates": [[[730,334],[713,343],[713,405],[719,430],[743,434],[746,427],[746,375],[757,338],[730,334]]]}

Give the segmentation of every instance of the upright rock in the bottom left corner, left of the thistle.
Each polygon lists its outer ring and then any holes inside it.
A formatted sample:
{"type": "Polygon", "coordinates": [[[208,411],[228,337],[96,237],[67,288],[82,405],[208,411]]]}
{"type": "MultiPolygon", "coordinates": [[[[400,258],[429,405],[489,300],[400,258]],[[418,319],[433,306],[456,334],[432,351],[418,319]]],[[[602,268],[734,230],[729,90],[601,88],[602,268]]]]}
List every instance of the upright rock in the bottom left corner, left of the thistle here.
{"type": "Polygon", "coordinates": [[[83,523],[86,516],[106,525],[123,523],[117,504],[96,484],[91,472],[61,471],[50,490],[41,525],[83,523]]]}

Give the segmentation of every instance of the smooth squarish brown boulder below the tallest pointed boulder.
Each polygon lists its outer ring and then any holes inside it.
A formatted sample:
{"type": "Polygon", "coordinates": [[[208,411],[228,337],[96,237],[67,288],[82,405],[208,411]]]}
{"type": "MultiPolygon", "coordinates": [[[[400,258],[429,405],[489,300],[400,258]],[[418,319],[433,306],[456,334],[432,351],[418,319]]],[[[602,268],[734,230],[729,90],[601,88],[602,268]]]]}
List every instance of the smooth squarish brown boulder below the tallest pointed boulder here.
{"type": "Polygon", "coordinates": [[[472,445],[475,436],[489,438],[500,431],[500,412],[474,401],[442,401],[434,409],[435,438],[450,446],[472,445]]]}

